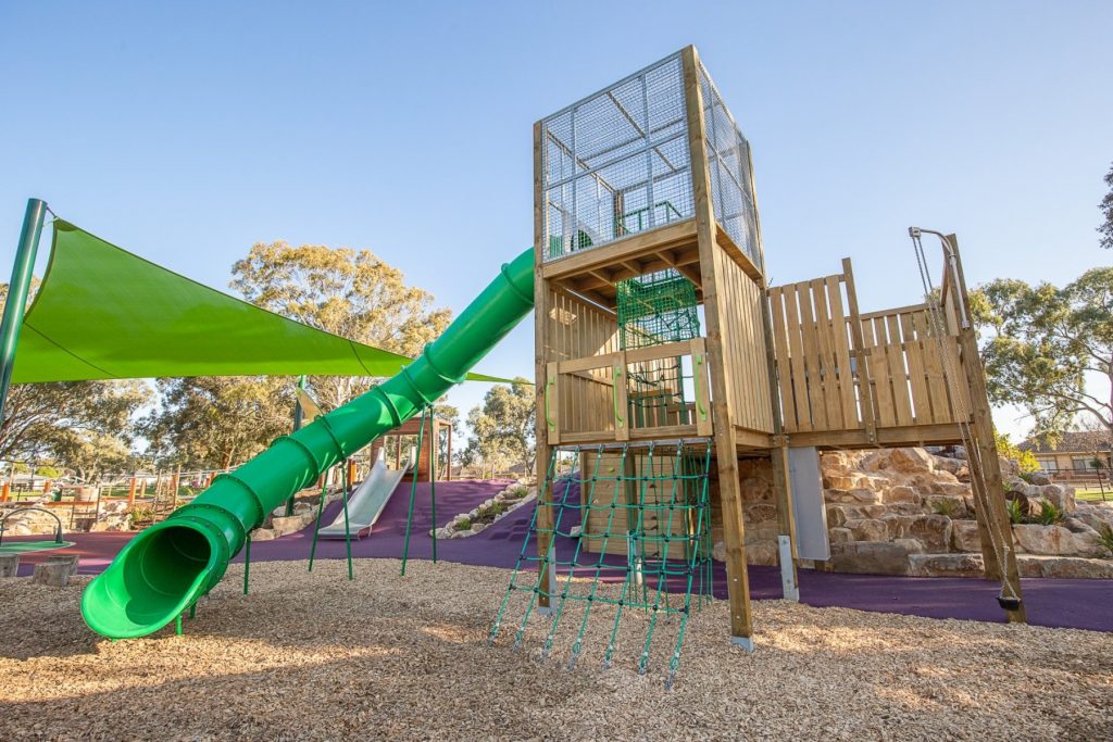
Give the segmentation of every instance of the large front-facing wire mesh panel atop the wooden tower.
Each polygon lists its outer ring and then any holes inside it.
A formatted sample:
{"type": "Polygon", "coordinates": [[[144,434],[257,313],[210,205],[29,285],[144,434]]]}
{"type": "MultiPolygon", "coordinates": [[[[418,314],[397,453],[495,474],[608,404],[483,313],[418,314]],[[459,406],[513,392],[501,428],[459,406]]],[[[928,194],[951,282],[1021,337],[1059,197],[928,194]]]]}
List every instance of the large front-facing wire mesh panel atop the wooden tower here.
{"type": "Polygon", "coordinates": [[[541,123],[545,260],[693,215],[679,53],[541,123]]]}

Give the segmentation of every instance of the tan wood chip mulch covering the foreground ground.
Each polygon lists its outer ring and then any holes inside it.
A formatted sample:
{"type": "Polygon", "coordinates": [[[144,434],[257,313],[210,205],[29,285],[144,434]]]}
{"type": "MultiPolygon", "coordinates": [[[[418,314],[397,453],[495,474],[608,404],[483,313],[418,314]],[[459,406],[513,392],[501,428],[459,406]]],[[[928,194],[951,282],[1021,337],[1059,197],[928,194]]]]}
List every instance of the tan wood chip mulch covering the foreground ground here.
{"type": "Polygon", "coordinates": [[[67,588],[0,580],[0,740],[22,739],[1113,739],[1109,634],[937,621],[780,601],[755,603],[758,651],[727,641],[725,602],[696,613],[676,687],[676,620],[628,611],[602,665],[613,609],[549,627],[515,596],[494,646],[510,573],[393,560],[242,567],[186,634],[109,642],[67,588]]]}

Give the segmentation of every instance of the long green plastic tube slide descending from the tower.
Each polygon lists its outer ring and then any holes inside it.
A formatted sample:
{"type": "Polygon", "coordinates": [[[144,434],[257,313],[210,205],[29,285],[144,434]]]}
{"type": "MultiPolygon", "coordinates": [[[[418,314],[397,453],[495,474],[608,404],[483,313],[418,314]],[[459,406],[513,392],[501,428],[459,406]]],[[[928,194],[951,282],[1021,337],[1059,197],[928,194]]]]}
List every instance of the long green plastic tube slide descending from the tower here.
{"type": "Polygon", "coordinates": [[[224,576],[247,534],[294,493],[431,405],[533,308],[533,250],[502,271],[420,358],[267,451],[137,535],[81,595],[81,615],[110,639],[145,636],[224,576]]]}

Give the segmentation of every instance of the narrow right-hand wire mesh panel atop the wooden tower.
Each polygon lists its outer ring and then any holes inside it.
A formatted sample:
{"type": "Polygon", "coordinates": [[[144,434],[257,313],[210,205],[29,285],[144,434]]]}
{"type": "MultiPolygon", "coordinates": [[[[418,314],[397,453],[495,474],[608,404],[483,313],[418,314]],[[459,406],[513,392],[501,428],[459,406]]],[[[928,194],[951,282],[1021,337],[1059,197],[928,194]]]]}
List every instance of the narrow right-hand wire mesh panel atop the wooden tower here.
{"type": "Polygon", "coordinates": [[[722,102],[711,76],[702,65],[699,66],[699,82],[703,98],[703,126],[715,219],[754,265],[764,270],[758,249],[750,145],[735,123],[735,117],[722,102]]]}

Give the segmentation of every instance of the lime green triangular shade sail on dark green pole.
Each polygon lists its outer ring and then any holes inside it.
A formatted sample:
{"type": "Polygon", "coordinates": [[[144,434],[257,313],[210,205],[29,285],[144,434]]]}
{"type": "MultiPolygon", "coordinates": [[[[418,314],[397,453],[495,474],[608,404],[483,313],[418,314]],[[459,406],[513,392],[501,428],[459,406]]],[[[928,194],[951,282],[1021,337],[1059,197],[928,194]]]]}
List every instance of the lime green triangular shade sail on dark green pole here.
{"type": "MultiPolygon", "coordinates": [[[[410,358],[221,294],[57,219],[12,383],[393,376],[410,358]]],[[[483,374],[471,380],[508,382],[483,374]]]]}

